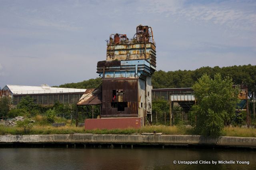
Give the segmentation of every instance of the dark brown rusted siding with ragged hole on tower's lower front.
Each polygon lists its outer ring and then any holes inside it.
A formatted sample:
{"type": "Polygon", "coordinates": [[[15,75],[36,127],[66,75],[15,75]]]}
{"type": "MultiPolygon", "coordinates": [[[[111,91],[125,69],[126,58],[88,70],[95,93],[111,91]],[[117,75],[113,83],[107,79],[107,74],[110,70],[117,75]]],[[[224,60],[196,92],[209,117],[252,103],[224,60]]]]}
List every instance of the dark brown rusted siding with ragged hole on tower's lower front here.
{"type": "MultiPolygon", "coordinates": [[[[118,98],[114,100],[118,102],[118,98]]],[[[138,114],[138,78],[135,79],[103,79],[102,81],[102,117],[130,117],[138,114]],[[117,111],[117,108],[112,108],[112,91],[122,89],[122,102],[127,102],[128,107],[124,111],[117,111]]]]}

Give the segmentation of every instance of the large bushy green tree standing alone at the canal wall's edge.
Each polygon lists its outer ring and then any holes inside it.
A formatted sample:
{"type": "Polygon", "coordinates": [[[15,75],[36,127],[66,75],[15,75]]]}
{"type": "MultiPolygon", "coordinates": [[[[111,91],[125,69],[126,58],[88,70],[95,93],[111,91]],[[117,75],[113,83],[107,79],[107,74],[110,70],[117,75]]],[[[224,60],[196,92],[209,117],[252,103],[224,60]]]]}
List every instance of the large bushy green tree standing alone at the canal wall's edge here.
{"type": "Polygon", "coordinates": [[[220,74],[214,79],[204,74],[193,85],[197,105],[192,107],[192,115],[196,116],[196,131],[205,136],[220,136],[224,125],[229,125],[235,116],[238,103],[238,89],[232,87],[230,77],[222,80],[220,74]]]}

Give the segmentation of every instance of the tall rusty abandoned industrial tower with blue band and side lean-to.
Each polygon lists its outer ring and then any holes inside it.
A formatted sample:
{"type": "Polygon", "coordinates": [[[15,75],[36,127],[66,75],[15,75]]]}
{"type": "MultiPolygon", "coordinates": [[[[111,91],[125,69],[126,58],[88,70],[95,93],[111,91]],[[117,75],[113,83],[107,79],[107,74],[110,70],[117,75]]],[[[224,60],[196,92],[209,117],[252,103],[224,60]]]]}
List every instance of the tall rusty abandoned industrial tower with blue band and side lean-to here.
{"type": "Polygon", "coordinates": [[[106,60],[98,61],[97,73],[102,85],[85,93],[78,105],[101,105],[100,118],[150,117],[151,76],[156,71],[156,43],[152,28],[137,26],[136,34],[111,34],[106,60]]]}

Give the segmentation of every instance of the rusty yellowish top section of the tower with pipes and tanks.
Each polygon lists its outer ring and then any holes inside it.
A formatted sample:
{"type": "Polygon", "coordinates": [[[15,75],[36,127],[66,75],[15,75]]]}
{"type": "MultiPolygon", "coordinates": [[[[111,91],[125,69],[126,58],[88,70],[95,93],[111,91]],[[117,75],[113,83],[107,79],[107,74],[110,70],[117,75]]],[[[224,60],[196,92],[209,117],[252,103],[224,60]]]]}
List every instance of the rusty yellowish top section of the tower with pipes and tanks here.
{"type": "MultiPolygon", "coordinates": [[[[126,34],[111,34],[107,41],[107,61],[148,59],[152,69],[156,69],[156,43],[152,28],[138,26],[136,34],[128,39],[126,34]]],[[[98,67],[98,69],[100,69],[98,67]]],[[[98,70],[99,71],[99,70],[98,70]]]]}

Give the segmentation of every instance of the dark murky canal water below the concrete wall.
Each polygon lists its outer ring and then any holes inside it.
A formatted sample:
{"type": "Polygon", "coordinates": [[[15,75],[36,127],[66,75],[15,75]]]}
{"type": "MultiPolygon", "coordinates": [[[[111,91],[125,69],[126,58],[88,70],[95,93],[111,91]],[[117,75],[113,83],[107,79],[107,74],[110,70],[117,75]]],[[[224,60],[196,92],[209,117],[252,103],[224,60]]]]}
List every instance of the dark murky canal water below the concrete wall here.
{"type": "Polygon", "coordinates": [[[256,151],[226,148],[0,148],[0,169],[255,170],[256,151]]]}

